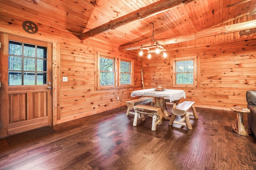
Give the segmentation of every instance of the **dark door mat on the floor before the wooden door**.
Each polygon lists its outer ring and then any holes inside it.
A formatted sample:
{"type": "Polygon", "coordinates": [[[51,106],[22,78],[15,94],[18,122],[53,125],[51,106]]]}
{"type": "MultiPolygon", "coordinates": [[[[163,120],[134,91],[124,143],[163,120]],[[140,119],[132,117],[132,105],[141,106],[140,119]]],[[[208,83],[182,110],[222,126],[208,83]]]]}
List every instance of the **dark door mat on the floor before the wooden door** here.
{"type": "Polygon", "coordinates": [[[34,129],[31,131],[27,131],[27,132],[19,133],[17,135],[12,135],[12,136],[6,137],[6,140],[8,141],[8,144],[10,146],[13,146],[13,145],[17,145],[20,143],[30,141],[32,139],[50,135],[55,132],[57,132],[57,131],[52,129],[49,126],[46,126],[46,127],[42,127],[39,129],[34,129]]]}

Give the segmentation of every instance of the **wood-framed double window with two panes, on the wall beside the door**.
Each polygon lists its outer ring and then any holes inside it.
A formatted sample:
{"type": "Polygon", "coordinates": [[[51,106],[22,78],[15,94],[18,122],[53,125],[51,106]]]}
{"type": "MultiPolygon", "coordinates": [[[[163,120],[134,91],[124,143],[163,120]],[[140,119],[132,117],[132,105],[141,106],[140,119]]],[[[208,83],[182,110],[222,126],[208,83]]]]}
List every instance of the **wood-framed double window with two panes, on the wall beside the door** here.
{"type": "Polygon", "coordinates": [[[132,59],[97,52],[97,90],[133,86],[132,59]]]}

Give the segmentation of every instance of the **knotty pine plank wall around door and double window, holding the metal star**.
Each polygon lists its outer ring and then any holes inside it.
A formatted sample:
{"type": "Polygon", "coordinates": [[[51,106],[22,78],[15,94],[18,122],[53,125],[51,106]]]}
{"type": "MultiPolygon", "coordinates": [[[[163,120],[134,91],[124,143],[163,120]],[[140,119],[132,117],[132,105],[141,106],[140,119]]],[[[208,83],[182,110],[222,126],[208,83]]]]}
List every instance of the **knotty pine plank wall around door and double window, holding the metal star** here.
{"type": "MultiPolygon", "coordinates": [[[[26,13],[30,21],[38,26],[38,33],[29,34],[22,29],[23,21],[19,8],[4,6],[0,12],[0,32],[53,43],[53,124],[63,123],[87,115],[125,106],[131,100],[130,93],[141,86],[142,61],[134,52],[119,52],[118,44],[109,40],[96,41],[93,38],[81,41],[57,22],[40,19],[26,13]],[[6,11],[6,12],[5,12],[6,11]],[[11,11],[11,14],[8,13],[11,11]],[[51,25],[51,26],[48,26],[51,25]],[[112,90],[94,90],[94,59],[97,51],[119,57],[134,59],[134,87],[112,90]],[[62,77],[67,76],[68,82],[62,77]],[[119,97],[117,100],[116,97],[119,97]]],[[[46,12],[48,13],[48,12],[46,12]]]]}

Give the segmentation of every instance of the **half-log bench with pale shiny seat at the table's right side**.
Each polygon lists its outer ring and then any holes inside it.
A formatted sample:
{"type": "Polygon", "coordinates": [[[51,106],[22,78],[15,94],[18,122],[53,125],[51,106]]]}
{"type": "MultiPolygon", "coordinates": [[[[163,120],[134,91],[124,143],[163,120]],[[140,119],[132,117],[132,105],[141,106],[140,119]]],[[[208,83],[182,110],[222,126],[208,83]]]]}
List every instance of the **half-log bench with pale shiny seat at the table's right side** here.
{"type": "Polygon", "coordinates": [[[189,115],[193,115],[195,119],[198,119],[198,115],[196,113],[196,108],[194,107],[194,103],[195,102],[185,101],[173,107],[172,116],[170,118],[169,125],[173,125],[174,123],[182,126],[187,126],[189,130],[192,130],[193,128],[189,119],[189,115]],[[188,112],[190,108],[192,109],[192,113],[188,112]],[[183,118],[180,121],[176,121],[174,120],[176,115],[183,116],[183,118]]]}

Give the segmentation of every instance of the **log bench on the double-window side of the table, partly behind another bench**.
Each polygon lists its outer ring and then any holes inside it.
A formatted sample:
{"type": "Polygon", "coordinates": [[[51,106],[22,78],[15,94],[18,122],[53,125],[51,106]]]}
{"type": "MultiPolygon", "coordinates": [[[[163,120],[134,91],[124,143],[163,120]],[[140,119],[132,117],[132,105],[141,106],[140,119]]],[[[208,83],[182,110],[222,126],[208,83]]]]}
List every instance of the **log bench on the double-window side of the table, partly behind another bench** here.
{"type": "Polygon", "coordinates": [[[145,98],[138,98],[138,99],[135,99],[135,100],[127,101],[126,106],[128,108],[127,108],[127,111],[126,111],[126,115],[127,116],[129,114],[134,115],[134,112],[130,111],[130,110],[133,109],[133,106],[136,106],[136,105],[139,105],[139,104],[145,104],[146,105],[146,104],[149,104],[149,103],[151,103],[151,106],[153,106],[153,98],[145,97],[145,98]]]}

